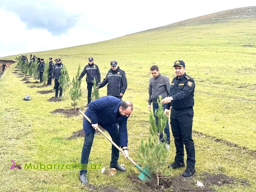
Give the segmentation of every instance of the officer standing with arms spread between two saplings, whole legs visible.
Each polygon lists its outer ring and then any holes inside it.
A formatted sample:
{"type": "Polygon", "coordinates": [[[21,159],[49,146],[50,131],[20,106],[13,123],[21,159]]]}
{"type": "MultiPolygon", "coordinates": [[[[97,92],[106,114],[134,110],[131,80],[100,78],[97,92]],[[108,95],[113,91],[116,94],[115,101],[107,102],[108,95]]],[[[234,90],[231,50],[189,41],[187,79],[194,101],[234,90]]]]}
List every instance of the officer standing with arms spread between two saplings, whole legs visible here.
{"type": "Polygon", "coordinates": [[[87,90],[88,90],[88,95],[87,95],[88,103],[84,107],[88,107],[88,105],[91,102],[91,90],[93,87],[94,78],[97,84],[101,83],[101,73],[99,72],[99,67],[96,64],[94,64],[93,57],[89,57],[88,60],[89,60],[88,65],[84,67],[84,70],[82,71],[81,75],[78,78],[78,81],[80,81],[85,76],[85,74],[87,74],[86,83],[87,83],[87,90]]]}

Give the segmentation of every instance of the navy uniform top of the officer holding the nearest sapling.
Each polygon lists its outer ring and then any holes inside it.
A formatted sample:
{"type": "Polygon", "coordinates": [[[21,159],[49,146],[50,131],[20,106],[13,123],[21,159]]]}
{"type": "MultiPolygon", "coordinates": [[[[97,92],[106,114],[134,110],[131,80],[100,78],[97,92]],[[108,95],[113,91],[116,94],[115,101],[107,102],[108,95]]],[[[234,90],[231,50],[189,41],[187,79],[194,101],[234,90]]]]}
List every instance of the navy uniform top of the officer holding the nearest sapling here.
{"type": "Polygon", "coordinates": [[[178,78],[176,76],[172,79],[169,96],[173,98],[173,101],[166,105],[166,109],[170,106],[174,110],[178,109],[190,109],[194,106],[194,92],[195,81],[186,73],[178,78]]]}

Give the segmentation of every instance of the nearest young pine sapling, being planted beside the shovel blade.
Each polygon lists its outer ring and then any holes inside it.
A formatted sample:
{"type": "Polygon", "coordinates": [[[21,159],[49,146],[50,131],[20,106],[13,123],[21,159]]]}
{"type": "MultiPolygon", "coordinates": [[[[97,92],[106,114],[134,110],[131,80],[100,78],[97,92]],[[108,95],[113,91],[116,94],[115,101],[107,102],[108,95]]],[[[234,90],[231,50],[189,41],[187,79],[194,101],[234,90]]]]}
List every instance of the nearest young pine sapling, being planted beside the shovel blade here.
{"type": "Polygon", "coordinates": [[[165,116],[162,104],[160,103],[162,97],[158,98],[158,110],[155,110],[155,116],[158,117],[158,123],[155,123],[154,113],[151,111],[149,114],[149,131],[150,136],[148,142],[141,141],[139,146],[138,157],[139,162],[145,166],[148,166],[149,171],[155,174],[157,177],[157,185],[159,185],[159,174],[163,172],[166,167],[166,162],[169,156],[169,151],[165,148],[165,143],[161,142],[159,136],[163,133],[163,137],[166,140],[166,134],[164,133],[167,117],[165,116]]]}

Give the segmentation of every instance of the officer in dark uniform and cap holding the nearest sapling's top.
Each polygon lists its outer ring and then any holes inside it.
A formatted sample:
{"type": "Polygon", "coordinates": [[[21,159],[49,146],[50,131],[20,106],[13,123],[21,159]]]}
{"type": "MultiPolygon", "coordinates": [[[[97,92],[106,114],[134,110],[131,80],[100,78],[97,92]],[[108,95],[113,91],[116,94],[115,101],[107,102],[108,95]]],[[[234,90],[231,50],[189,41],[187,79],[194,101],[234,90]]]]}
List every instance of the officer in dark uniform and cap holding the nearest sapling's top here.
{"type": "Polygon", "coordinates": [[[190,177],[195,173],[195,145],[192,139],[195,82],[185,73],[184,61],[175,61],[173,67],[177,76],[172,79],[170,97],[162,100],[162,104],[168,104],[165,109],[166,116],[169,115],[169,109],[171,109],[171,128],[176,147],[174,162],[169,164],[168,168],[176,169],[185,166],[185,145],[187,168],[182,176],[190,177]]]}

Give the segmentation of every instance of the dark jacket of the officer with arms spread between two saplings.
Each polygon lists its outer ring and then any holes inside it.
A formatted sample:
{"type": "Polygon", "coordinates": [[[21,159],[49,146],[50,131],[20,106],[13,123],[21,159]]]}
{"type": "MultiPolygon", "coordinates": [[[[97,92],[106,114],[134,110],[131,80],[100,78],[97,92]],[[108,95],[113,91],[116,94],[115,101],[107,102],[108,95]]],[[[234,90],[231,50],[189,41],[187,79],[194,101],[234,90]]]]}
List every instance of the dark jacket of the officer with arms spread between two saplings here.
{"type": "Polygon", "coordinates": [[[82,71],[81,75],[79,76],[79,81],[86,76],[86,82],[87,83],[93,83],[93,80],[95,78],[96,82],[101,82],[101,73],[99,72],[99,67],[96,64],[88,64],[84,67],[84,70],[82,71]]]}

